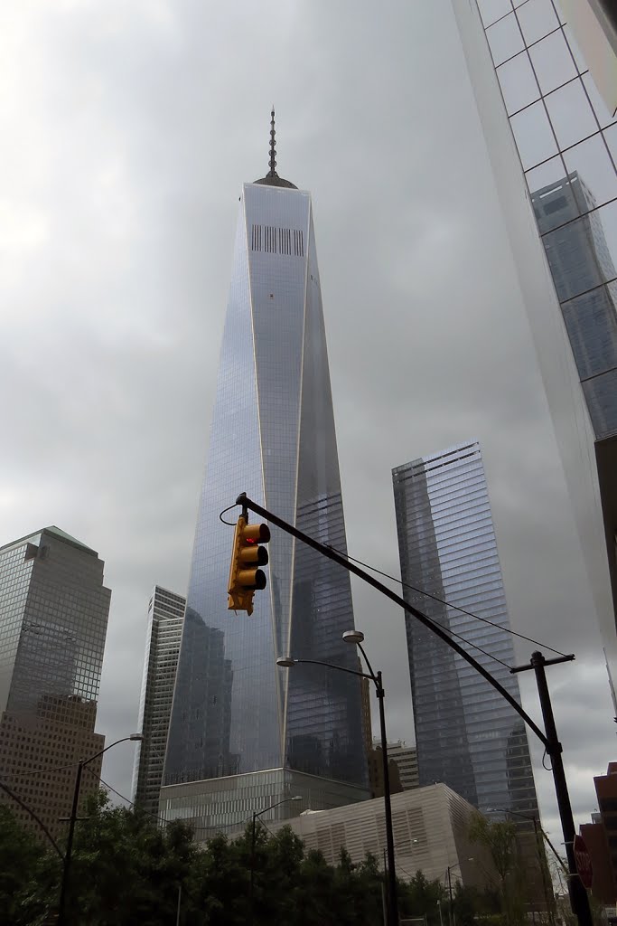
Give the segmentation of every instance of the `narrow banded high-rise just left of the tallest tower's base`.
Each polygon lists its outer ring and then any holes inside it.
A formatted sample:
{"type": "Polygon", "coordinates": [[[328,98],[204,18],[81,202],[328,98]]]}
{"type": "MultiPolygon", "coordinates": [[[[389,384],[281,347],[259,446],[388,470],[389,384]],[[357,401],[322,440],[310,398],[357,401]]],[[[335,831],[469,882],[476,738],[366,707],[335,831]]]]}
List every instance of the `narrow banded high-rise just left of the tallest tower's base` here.
{"type": "Polygon", "coordinates": [[[186,599],[180,594],[154,586],[148,605],[138,726],[144,738],[137,744],[133,767],[133,801],[151,814],[158,814],[185,607],[186,599]]]}

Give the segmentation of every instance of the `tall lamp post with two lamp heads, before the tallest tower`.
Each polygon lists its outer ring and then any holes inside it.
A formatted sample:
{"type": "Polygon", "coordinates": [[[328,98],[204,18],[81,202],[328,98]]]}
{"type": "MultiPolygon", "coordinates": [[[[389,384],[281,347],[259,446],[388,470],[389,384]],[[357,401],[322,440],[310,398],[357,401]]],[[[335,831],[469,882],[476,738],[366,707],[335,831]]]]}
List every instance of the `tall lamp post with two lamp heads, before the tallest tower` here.
{"type": "Polygon", "coordinates": [[[368,657],[364,652],[364,633],[361,631],[345,631],[345,643],[353,644],[360,649],[364,656],[368,672],[357,669],[347,669],[345,666],[335,666],[330,662],[321,662],[319,659],[294,659],[292,657],[278,657],[277,665],[285,669],[292,666],[308,664],[313,666],[326,666],[327,669],[336,669],[339,672],[348,672],[362,679],[370,679],[375,684],[377,701],[379,702],[379,726],[381,730],[381,758],[384,770],[384,812],[386,817],[386,843],[388,845],[388,920],[389,926],[399,926],[399,903],[396,889],[396,869],[394,865],[394,835],[392,831],[392,807],[390,804],[389,768],[388,768],[388,738],[386,736],[386,715],[384,711],[384,686],[381,681],[381,672],[374,672],[368,657]]]}

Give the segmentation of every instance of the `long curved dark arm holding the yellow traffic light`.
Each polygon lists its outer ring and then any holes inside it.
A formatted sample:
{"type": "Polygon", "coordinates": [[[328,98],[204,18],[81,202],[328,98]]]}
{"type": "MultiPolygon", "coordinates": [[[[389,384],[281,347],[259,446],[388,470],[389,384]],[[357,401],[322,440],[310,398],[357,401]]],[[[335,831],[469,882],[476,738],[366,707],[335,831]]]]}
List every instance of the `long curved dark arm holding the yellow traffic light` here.
{"type": "Polygon", "coordinates": [[[241,505],[243,509],[249,508],[251,511],[254,511],[255,514],[260,515],[265,520],[269,521],[271,524],[276,524],[281,531],[290,533],[292,537],[295,537],[296,540],[302,541],[302,544],[307,544],[307,546],[312,546],[314,550],[318,553],[321,553],[322,556],[327,557],[328,559],[334,560],[335,563],[339,563],[339,566],[342,566],[343,569],[347,569],[348,572],[352,572],[354,575],[358,576],[360,579],[363,579],[364,582],[367,582],[369,585],[372,585],[373,588],[376,588],[377,592],[385,594],[390,601],[393,601],[395,604],[402,607],[409,614],[412,614],[413,617],[420,621],[429,631],[435,633],[444,643],[450,646],[450,649],[453,649],[454,652],[458,653],[465,662],[468,662],[470,666],[473,666],[476,672],[479,672],[487,682],[495,688],[500,695],[506,699],[508,704],[516,711],[516,713],[524,720],[530,730],[536,733],[539,741],[546,748],[549,748],[549,740],[545,733],[543,733],[540,728],[537,726],[537,723],[529,717],[529,715],[524,711],[523,707],[512,697],[510,692],[506,691],[503,685],[493,678],[487,669],[484,668],[473,656],[470,656],[466,650],[463,649],[463,646],[456,643],[452,640],[446,631],[444,631],[437,623],[435,623],[430,618],[426,617],[426,614],[423,614],[422,611],[419,611],[417,607],[413,607],[404,598],[401,598],[401,595],[396,594],[395,592],[390,591],[390,589],[378,582],[373,576],[369,575],[368,572],[364,572],[364,569],[356,566],[355,563],[351,563],[349,559],[341,557],[339,553],[336,553],[331,547],[320,544],[318,541],[314,540],[313,537],[309,537],[308,534],[302,533],[298,528],[292,527],[291,524],[288,524],[287,521],[282,518],[278,518],[277,515],[274,515],[271,511],[267,511],[261,505],[257,505],[256,502],[253,502],[245,493],[242,493],[236,499],[236,505],[241,505]]]}

